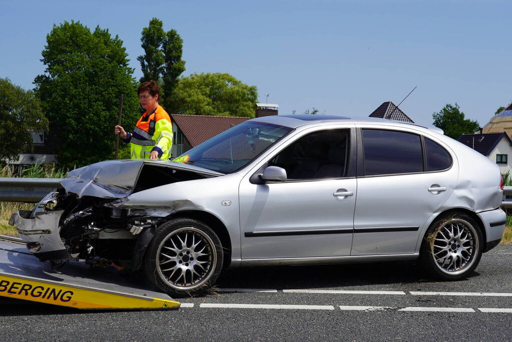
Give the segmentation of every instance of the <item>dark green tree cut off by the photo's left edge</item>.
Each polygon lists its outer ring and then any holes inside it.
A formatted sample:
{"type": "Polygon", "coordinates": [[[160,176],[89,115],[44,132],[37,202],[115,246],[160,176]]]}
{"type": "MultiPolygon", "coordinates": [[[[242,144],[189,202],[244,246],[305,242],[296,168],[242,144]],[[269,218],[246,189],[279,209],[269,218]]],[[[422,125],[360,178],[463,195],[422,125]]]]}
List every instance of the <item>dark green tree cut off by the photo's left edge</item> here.
{"type": "Polygon", "coordinates": [[[0,78],[0,159],[13,159],[32,149],[29,131],[48,129],[41,103],[32,91],[26,91],[0,78]]]}

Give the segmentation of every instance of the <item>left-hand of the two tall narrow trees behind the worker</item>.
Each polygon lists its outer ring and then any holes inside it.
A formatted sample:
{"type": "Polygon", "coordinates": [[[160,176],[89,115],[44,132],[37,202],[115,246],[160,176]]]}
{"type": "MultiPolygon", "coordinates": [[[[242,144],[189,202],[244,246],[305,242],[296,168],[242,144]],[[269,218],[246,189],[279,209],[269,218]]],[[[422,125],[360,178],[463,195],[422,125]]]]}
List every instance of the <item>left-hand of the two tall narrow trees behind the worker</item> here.
{"type": "Polygon", "coordinates": [[[144,55],[137,57],[143,74],[140,82],[158,81],[162,74],[165,61],[162,51],[165,31],[162,26],[161,20],[153,18],[150,20],[150,25],[142,29],[140,41],[142,42],[141,46],[144,49],[144,55]]]}

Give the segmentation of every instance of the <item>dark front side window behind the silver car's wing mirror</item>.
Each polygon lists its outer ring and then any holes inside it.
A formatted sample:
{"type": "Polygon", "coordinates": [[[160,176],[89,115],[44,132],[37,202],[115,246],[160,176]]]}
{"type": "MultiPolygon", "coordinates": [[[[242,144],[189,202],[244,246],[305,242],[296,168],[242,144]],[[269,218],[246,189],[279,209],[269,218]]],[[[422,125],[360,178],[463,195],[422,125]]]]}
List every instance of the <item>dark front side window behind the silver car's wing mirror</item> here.
{"type": "Polygon", "coordinates": [[[286,170],[289,180],[344,177],[348,130],[325,130],[301,137],[276,155],[269,166],[286,170]]]}

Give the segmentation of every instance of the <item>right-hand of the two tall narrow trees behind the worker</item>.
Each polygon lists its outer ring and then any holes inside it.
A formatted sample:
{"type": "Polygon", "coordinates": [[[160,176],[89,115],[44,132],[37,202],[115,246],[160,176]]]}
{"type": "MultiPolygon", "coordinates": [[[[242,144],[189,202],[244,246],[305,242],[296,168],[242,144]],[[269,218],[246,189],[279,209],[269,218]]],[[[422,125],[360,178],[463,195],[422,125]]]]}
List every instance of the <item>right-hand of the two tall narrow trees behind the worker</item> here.
{"type": "Polygon", "coordinates": [[[163,106],[169,113],[174,113],[176,107],[173,105],[172,95],[178,85],[178,77],[185,71],[185,61],[181,59],[183,39],[174,29],[165,34],[163,54],[165,59],[165,67],[162,72],[164,83],[163,106]]]}

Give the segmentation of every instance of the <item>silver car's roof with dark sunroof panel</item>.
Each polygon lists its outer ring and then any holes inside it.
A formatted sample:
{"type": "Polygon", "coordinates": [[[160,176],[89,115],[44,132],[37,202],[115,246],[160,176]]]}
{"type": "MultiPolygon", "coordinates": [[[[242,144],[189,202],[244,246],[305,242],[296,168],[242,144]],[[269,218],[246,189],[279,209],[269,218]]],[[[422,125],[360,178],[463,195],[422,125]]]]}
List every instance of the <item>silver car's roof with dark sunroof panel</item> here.
{"type": "Polygon", "coordinates": [[[415,123],[389,120],[382,118],[373,117],[348,117],[348,116],[336,116],[336,115],[317,115],[317,114],[299,114],[299,115],[270,115],[252,119],[250,121],[260,121],[279,124],[286,127],[296,128],[313,122],[373,122],[373,123],[399,123],[406,126],[423,127],[425,129],[433,130],[437,133],[443,134],[442,130],[437,127],[422,126],[415,123]]]}

